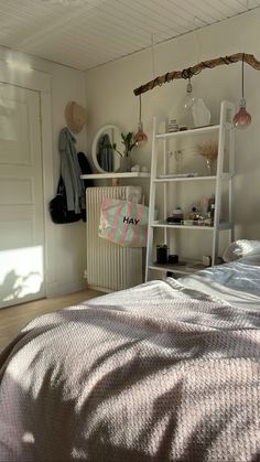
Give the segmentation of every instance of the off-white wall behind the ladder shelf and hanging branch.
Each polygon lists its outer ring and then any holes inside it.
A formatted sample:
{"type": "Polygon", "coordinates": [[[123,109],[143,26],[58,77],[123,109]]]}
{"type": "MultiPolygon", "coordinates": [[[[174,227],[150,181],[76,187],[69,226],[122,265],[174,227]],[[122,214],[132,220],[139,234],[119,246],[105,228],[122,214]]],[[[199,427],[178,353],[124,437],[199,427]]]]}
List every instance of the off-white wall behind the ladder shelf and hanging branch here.
{"type": "MultiPolygon", "coordinates": [[[[95,132],[102,125],[115,123],[123,131],[136,131],[139,100],[134,97],[133,89],[141,84],[166,72],[192,66],[198,61],[238,52],[254,54],[260,60],[259,26],[260,11],[254,10],[156,45],[153,58],[152,51],[148,50],[87,72],[86,100],[90,111],[88,152],[95,132]]],[[[241,63],[205,69],[193,78],[193,86],[194,92],[202,96],[209,107],[212,121],[217,122],[219,104],[223,99],[234,100],[237,105],[239,103],[241,63]]],[[[150,166],[152,116],[158,115],[162,120],[165,120],[170,114],[178,117],[185,88],[184,80],[173,80],[142,95],[142,120],[149,142],[144,148],[136,150],[133,154],[136,162],[150,166]]],[[[260,72],[247,64],[245,96],[252,123],[246,131],[236,133],[236,238],[256,239],[260,236],[260,72]]],[[[148,182],[143,181],[143,187],[148,194],[148,182]]]]}

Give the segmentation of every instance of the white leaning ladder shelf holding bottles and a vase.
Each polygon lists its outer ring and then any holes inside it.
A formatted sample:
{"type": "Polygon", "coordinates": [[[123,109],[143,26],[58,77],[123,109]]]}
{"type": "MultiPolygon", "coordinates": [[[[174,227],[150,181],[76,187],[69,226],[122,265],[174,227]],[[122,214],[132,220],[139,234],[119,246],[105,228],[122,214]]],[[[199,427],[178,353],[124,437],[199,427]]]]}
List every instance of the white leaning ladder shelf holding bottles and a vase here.
{"type": "MultiPolygon", "coordinates": [[[[218,246],[219,246],[219,233],[221,230],[228,230],[229,243],[234,240],[234,216],[232,216],[232,196],[234,196],[234,174],[235,174],[235,130],[232,125],[232,118],[235,115],[235,105],[229,101],[221,101],[220,105],[220,117],[219,125],[207,126],[196,129],[189,129],[185,131],[177,132],[158,132],[158,120],[156,117],[153,118],[153,139],[152,139],[152,161],[151,161],[151,180],[150,180],[150,201],[149,201],[149,224],[148,224],[148,248],[147,248],[147,265],[145,265],[145,280],[150,279],[151,270],[160,271],[173,271],[180,273],[180,276],[195,272],[198,268],[192,265],[184,266],[173,266],[173,265],[156,265],[154,261],[154,229],[163,228],[164,233],[164,243],[169,241],[169,233],[172,233],[170,229],[191,229],[199,230],[201,233],[212,233],[212,265],[215,265],[218,257],[218,246]],[[218,155],[217,155],[217,168],[215,175],[199,175],[199,176],[177,176],[177,175],[167,175],[167,154],[169,154],[169,141],[171,139],[180,140],[178,137],[196,137],[197,135],[217,135],[218,142],[218,155]],[[228,142],[228,154],[226,151],[226,142],[228,142]],[[158,143],[163,143],[161,148],[162,153],[159,153],[158,143]],[[163,155],[163,159],[160,159],[161,164],[163,162],[163,171],[165,173],[164,178],[158,175],[158,165],[159,157],[163,155]],[[224,157],[226,155],[226,159],[224,157]],[[227,158],[228,155],[228,158],[227,158]],[[224,160],[226,171],[224,171],[224,160]],[[214,224],[212,226],[187,226],[180,224],[169,224],[166,221],[167,217],[167,186],[170,182],[199,182],[209,181],[214,184],[215,193],[215,215],[214,224]],[[221,194],[223,194],[223,182],[228,181],[228,219],[223,222],[220,221],[220,204],[221,204],[221,194]],[[164,195],[164,205],[163,205],[163,219],[154,219],[154,209],[156,202],[156,186],[159,183],[163,183],[163,195],[164,195]]],[[[159,211],[161,212],[161,211],[159,211]]]]}

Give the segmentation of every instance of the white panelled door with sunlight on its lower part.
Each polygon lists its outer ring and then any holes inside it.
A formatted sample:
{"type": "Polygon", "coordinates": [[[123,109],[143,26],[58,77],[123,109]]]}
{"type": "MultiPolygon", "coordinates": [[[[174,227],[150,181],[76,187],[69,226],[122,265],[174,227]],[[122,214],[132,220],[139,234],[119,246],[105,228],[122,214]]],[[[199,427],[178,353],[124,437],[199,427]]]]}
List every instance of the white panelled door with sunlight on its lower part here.
{"type": "Polygon", "coordinates": [[[0,84],[0,308],[45,296],[40,94],[0,84]]]}

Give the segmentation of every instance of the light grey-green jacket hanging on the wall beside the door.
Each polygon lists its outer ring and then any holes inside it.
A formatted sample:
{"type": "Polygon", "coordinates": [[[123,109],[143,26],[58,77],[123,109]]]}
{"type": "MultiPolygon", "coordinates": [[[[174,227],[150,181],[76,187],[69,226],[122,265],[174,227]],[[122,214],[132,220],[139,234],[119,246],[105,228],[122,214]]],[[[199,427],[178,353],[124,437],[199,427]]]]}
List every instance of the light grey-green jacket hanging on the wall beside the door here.
{"type": "Polygon", "coordinates": [[[80,213],[85,197],[84,182],[80,180],[80,168],[77,159],[76,139],[67,128],[59,133],[58,150],[61,153],[62,178],[65,184],[67,209],[80,213]]]}

